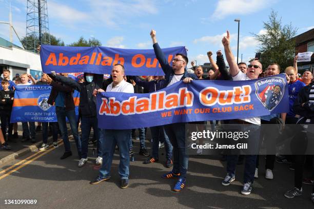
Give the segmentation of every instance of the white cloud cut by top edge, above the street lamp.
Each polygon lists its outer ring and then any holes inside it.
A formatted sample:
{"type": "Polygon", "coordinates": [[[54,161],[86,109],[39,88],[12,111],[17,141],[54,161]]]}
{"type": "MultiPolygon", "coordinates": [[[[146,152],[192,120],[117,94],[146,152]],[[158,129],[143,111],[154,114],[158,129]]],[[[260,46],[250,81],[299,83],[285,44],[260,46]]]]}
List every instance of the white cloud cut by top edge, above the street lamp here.
{"type": "Polygon", "coordinates": [[[263,8],[266,8],[270,3],[276,1],[271,0],[220,0],[215,8],[212,19],[223,19],[228,15],[245,15],[257,12],[263,8]]]}

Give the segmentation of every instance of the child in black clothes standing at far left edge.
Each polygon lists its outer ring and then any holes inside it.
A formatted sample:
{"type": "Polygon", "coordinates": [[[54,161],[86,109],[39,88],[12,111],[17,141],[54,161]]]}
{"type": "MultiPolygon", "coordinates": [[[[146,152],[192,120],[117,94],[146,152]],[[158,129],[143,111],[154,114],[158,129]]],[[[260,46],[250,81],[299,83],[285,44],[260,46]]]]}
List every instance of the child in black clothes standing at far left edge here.
{"type": "Polygon", "coordinates": [[[9,89],[9,81],[3,79],[1,81],[2,89],[0,91],[0,118],[1,118],[1,130],[3,137],[6,140],[6,129],[8,125],[8,138],[7,140],[13,140],[12,130],[13,123],[10,123],[11,111],[14,99],[14,91],[9,89]]]}

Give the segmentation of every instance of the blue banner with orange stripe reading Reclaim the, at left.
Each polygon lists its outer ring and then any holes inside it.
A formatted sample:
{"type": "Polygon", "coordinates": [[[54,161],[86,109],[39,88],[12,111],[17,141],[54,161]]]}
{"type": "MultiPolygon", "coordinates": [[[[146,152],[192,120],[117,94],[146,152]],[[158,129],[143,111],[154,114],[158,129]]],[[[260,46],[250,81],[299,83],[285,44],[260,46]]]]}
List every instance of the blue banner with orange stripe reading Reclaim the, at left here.
{"type": "MultiPolygon", "coordinates": [[[[57,122],[55,106],[48,104],[52,87],[48,85],[16,86],[11,113],[13,122],[57,122]]],[[[80,93],[73,93],[75,113],[78,116],[80,93]]]]}

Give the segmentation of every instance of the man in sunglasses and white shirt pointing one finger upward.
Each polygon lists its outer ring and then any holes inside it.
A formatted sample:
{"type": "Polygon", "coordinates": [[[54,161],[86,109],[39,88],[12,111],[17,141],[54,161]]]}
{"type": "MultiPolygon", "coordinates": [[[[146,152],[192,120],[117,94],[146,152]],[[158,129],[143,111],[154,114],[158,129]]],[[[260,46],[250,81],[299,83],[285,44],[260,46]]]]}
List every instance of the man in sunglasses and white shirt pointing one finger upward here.
{"type": "MultiPolygon", "coordinates": [[[[247,72],[240,71],[237,62],[234,61],[234,56],[230,48],[230,34],[227,31],[227,36],[222,39],[222,44],[225,48],[226,58],[230,67],[230,75],[232,80],[250,80],[257,79],[262,73],[262,64],[258,60],[253,60],[247,67],[247,72]]],[[[242,131],[250,130],[250,139],[259,140],[260,129],[257,126],[261,125],[260,117],[241,118],[230,120],[230,124],[243,124],[242,131]]],[[[258,142],[257,142],[258,143],[258,142]]],[[[257,144],[256,144],[257,145],[257,144]]],[[[238,162],[239,155],[227,156],[227,175],[222,181],[222,185],[228,186],[235,180],[235,166],[238,162]]],[[[244,169],[244,184],[241,190],[241,194],[249,195],[252,191],[252,184],[254,181],[255,167],[256,167],[257,155],[245,155],[245,169],[244,169]]]]}

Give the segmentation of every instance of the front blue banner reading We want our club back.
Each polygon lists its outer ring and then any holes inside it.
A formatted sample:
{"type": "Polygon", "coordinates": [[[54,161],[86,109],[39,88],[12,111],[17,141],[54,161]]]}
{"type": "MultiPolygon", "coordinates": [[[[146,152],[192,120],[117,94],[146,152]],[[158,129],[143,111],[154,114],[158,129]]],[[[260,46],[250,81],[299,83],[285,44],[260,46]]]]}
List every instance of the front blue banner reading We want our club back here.
{"type": "Polygon", "coordinates": [[[149,94],[97,95],[98,124],[102,129],[251,118],[288,111],[284,74],[246,81],[181,81],[149,94]]]}

